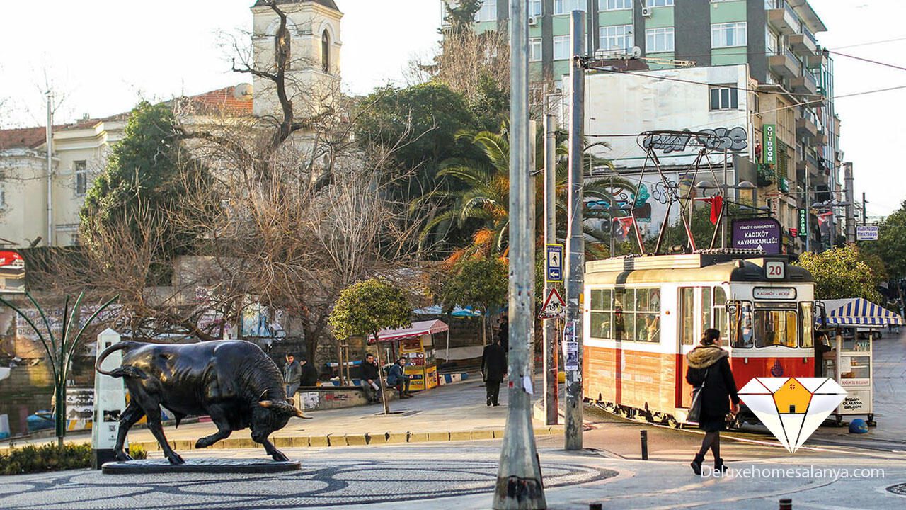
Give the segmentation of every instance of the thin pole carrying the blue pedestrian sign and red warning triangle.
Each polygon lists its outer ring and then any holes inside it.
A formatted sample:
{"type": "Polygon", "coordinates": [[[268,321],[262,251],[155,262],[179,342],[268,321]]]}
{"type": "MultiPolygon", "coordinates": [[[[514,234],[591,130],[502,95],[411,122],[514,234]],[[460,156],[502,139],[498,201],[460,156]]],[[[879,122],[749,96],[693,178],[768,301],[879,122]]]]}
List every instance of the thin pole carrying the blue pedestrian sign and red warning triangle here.
{"type": "MultiPolygon", "coordinates": [[[[557,133],[554,115],[545,115],[545,245],[557,242],[556,198],[557,133]]],[[[545,278],[545,297],[554,284],[545,278]]],[[[556,425],[559,418],[557,402],[557,330],[556,319],[545,319],[545,424],[556,425]]]]}

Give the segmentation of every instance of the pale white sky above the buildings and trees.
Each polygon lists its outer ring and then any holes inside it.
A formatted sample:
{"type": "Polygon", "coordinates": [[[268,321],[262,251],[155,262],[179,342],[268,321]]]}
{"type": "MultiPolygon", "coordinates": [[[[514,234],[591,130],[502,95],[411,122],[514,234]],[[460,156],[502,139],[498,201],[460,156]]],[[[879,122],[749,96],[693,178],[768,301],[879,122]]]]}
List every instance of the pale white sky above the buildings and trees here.
{"type": "MultiPolygon", "coordinates": [[[[689,0],[685,0],[689,1],[689,0]]],[[[698,0],[704,1],[704,0],[698,0]]],[[[121,113],[140,99],[164,100],[248,81],[229,71],[223,34],[248,29],[252,0],[0,0],[0,125],[42,125],[44,83],[60,92],[57,120],[121,113]]],[[[342,78],[350,93],[405,83],[415,56],[435,49],[436,0],[336,0],[342,19],[342,78]]],[[[906,67],[906,2],[811,0],[830,50],[906,67]],[[902,39],[890,41],[892,39],[902,39]],[[889,41],[883,42],[882,41],[889,41]],[[858,44],[858,45],[856,45],[858,44]]],[[[906,85],[906,70],[834,55],[835,95],[906,85]]],[[[906,89],[839,98],[841,148],[868,215],[906,200],[891,170],[906,142],[906,89]],[[893,181],[892,181],[893,179],[893,181]]],[[[897,166],[898,168],[898,166],[897,166]]]]}

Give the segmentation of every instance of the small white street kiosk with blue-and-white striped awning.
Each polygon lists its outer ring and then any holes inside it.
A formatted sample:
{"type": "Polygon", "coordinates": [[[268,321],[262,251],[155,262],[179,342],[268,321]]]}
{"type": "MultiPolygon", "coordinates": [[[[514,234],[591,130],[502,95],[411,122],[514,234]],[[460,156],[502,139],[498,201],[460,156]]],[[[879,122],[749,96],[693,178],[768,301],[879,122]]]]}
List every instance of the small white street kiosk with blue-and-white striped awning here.
{"type": "Polygon", "coordinates": [[[865,416],[874,423],[872,394],[872,340],[874,331],[888,324],[902,324],[896,313],[871,301],[825,299],[825,328],[832,350],[824,352],[824,377],[846,390],[846,397],[834,411],[837,423],[845,416],[865,416]]]}

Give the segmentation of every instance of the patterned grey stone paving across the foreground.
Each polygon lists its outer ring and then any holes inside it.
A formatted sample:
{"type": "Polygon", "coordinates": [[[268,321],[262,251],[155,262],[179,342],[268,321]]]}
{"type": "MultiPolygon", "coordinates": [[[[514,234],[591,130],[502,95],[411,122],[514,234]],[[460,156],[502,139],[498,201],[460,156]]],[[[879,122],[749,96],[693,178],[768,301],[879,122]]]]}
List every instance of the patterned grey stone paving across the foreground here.
{"type": "MultiPolygon", "coordinates": [[[[488,508],[496,480],[500,441],[405,446],[292,449],[302,471],[278,475],[128,476],[92,471],[7,476],[0,507],[28,510],[360,508],[415,510],[488,508]]],[[[198,458],[205,452],[191,452],[198,458]]],[[[795,457],[747,458],[735,446],[728,456],[735,469],[864,469],[880,467],[883,477],[793,477],[777,471],[758,476],[733,473],[702,478],[686,461],[626,460],[606,452],[568,453],[541,447],[545,495],[551,509],[587,508],[776,508],[792,497],[795,508],[855,510],[901,508],[906,496],[906,459],[823,451],[795,457]],[[890,489],[889,489],[890,488],[890,489]]],[[[248,450],[220,455],[254,456],[248,450]]],[[[854,473],[854,471],[851,471],[854,473]]]]}

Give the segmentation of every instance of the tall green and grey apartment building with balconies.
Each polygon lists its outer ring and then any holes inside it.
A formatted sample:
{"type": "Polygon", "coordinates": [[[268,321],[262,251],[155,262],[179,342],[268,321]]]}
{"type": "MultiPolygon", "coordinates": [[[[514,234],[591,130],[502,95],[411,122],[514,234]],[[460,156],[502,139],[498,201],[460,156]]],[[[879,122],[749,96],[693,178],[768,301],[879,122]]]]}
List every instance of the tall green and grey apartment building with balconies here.
{"type": "MultiPolygon", "coordinates": [[[[485,0],[477,30],[506,30],[508,7],[507,0],[485,0]]],[[[796,211],[808,213],[815,201],[839,194],[840,181],[834,63],[815,36],[827,28],[806,0],[529,0],[529,76],[537,90],[563,88],[573,10],[587,14],[586,54],[630,58],[641,73],[746,64],[758,91],[747,124],[758,145],[764,124],[775,126],[779,141],[775,161],[757,162],[762,182],[770,181],[759,189],[758,205],[776,210],[789,250],[830,246],[810,213],[805,240],[796,211]]]]}

